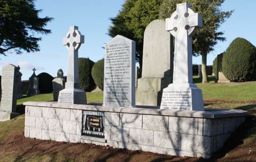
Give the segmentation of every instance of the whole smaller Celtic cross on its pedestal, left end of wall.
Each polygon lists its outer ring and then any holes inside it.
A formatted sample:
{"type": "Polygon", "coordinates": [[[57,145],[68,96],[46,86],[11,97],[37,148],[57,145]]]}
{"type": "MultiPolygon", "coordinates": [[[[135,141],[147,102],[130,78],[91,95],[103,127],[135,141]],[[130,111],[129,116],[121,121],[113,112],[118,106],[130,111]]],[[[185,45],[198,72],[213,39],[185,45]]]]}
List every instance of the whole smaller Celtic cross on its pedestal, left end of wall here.
{"type": "Polygon", "coordinates": [[[84,43],[84,36],[78,26],[70,26],[63,38],[63,45],[68,49],[68,75],[65,89],[59,92],[58,103],[87,104],[86,93],[80,89],[78,74],[78,49],[84,43]]]}

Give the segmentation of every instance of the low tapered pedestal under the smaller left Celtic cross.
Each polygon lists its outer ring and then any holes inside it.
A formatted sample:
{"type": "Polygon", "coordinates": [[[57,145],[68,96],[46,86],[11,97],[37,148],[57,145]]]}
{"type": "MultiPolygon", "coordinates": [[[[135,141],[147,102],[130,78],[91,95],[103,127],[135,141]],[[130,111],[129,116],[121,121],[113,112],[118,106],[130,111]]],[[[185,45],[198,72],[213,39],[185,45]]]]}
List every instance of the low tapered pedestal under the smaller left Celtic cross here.
{"type": "Polygon", "coordinates": [[[86,93],[78,88],[65,88],[59,92],[58,103],[87,104],[86,93]]]}

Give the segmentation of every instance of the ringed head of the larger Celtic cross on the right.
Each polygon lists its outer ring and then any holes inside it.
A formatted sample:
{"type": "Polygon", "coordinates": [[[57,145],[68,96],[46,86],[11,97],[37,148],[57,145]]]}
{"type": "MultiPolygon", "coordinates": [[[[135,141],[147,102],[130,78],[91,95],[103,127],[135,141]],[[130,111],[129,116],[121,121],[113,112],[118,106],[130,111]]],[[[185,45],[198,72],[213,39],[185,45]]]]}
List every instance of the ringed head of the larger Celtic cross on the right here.
{"type": "Polygon", "coordinates": [[[199,27],[202,27],[202,15],[191,10],[189,3],[177,4],[176,11],[166,19],[166,30],[174,37],[182,31],[192,36],[199,27]]]}

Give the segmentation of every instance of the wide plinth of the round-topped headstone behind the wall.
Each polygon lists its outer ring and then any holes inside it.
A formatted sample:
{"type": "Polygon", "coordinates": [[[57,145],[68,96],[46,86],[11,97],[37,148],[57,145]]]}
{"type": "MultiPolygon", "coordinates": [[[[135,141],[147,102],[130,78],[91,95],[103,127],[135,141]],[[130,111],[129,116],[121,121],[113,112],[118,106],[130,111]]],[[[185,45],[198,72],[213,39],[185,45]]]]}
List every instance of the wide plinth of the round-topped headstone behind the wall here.
{"type": "Polygon", "coordinates": [[[162,90],[172,82],[171,77],[151,77],[138,79],[136,105],[160,106],[162,90]]]}

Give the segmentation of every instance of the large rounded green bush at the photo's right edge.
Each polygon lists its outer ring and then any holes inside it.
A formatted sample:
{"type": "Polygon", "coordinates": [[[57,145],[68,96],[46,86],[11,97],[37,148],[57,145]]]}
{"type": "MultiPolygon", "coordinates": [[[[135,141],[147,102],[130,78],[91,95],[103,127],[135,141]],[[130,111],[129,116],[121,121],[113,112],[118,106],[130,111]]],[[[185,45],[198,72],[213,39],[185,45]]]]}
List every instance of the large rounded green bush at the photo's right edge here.
{"type": "Polygon", "coordinates": [[[255,80],[256,48],[244,38],[232,41],[222,58],[222,72],[232,82],[255,80]]]}

